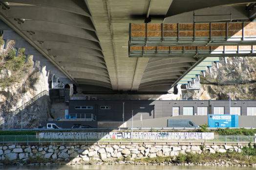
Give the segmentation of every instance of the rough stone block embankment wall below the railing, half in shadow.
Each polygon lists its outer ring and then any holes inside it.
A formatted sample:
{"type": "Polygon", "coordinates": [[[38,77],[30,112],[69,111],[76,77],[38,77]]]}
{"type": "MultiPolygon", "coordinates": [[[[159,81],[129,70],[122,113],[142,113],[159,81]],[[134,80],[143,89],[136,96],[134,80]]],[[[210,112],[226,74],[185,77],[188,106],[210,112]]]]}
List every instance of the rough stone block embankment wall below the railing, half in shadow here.
{"type": "MultiPolygon", "coordinates": [[[[180,153],[225,153],[241,152],[242,146],[173,146],[173,145],[9,145],[0,146],[0,160],[15,160],[24,163],[29,157],[48,159],[49,162],[111,162],[116,159],[119,164],[132,163],[135,158],[172,156],[180,153]]],[[[116,162],[115,162],[116,163],[116,162]]]]}

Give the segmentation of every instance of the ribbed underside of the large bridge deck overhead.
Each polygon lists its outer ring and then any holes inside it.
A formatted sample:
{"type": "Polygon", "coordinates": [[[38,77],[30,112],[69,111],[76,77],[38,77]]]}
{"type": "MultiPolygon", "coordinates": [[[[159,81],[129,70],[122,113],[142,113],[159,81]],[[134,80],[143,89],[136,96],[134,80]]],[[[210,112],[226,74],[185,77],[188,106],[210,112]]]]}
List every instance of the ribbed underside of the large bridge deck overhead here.
{"type": "Polygon", "coordinates": [[[3,39],[80,91],[166,93],[206,57],[129,58],[129,23],[254,20],[256,0],[8,0],[3,39]]]}

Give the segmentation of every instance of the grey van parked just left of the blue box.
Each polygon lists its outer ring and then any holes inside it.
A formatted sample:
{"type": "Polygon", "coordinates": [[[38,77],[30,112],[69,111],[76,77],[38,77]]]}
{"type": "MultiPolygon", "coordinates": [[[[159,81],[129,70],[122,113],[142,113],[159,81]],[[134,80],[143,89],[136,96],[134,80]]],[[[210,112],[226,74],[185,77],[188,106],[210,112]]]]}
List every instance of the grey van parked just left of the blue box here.
{"type": "Polygon", "coordinates": [[[199,127],[190,119],[168,119],[167,127],[199,127]]]}

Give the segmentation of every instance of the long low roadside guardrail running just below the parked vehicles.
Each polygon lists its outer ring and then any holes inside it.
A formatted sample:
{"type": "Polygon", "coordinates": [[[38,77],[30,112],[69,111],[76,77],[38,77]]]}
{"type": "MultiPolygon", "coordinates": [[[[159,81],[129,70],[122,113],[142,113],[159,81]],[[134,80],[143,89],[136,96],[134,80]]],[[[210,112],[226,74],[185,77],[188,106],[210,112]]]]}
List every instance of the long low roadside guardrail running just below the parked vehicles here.
{"type": "MultiPolygon", "coordinates": [[[[1,129],[0,131],[104,131],[104,130],[131,130],[132,128],[76,128],[76,129],[68,129],[68,128],[61,128],[61,129],[1,129]]],[[[168,128],[168,127],[158,127],[158,128],[133,128],[134,131],[136,130],[196,130],[201,129],[199,128],[168,128]]],[[[226,128],[207,128],[208,130],[215,130],[215,129],[226,129],[226,128]]],[[[230,128],[230,129],[241,129],[241,128],[230,128]]],[[[245,127],[244,129],[256,129],[255,127],[245,127]]]]}

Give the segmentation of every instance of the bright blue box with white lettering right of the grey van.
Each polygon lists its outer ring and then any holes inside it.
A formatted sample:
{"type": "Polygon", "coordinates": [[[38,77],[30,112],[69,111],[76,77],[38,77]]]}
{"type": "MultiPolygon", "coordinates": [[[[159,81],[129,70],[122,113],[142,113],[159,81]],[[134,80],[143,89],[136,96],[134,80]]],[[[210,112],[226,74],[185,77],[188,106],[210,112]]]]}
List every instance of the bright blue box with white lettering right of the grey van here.
{"type": "Polygon", "coordinates": [[[238,127],[238,115],[208,115],[209,127],[238,127]]]}

